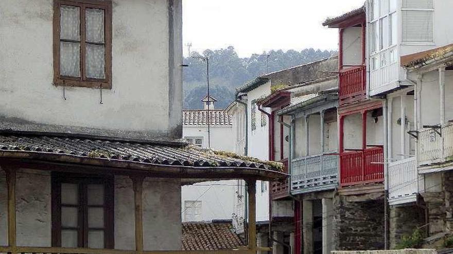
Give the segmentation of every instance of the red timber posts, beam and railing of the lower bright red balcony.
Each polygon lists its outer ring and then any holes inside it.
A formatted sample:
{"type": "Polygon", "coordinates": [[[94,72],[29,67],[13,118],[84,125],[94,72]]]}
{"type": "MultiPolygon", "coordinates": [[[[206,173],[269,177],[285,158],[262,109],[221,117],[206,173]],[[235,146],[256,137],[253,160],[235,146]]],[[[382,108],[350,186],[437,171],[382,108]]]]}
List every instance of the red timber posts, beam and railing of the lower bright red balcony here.
{"type": "Polygon", "coordinates": [[[339,108],[340,187],[384,181],[384,147],[367,145],[367,114],[379,108],[382,108],[381,101],[339,108]],[[362,149],[345,149],[344,118],[357,113],[362,115],[362,149]]]}

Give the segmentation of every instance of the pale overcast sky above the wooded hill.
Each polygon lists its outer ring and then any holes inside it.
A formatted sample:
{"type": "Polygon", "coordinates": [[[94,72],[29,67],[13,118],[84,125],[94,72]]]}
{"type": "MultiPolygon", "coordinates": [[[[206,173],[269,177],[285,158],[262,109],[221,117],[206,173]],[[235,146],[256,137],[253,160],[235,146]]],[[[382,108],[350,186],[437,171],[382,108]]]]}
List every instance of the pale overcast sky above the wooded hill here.
{"type": "Polygon", "coordinates": [[[240,57],[270,49],[337,49],[337,29],[321,25],[364,0],[182,0],[184,54],[234,46],[240,57]]]}

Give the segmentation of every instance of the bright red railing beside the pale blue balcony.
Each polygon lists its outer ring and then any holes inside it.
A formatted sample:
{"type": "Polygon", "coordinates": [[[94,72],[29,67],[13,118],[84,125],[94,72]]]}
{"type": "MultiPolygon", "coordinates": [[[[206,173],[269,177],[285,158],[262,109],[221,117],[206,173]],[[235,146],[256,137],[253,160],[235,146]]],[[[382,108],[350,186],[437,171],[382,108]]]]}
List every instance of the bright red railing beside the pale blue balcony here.
{"type": "Polygon", "coordinates": [[[383,182],[383,162],[382,147],[340,153],[340,185],[383,182]]]}

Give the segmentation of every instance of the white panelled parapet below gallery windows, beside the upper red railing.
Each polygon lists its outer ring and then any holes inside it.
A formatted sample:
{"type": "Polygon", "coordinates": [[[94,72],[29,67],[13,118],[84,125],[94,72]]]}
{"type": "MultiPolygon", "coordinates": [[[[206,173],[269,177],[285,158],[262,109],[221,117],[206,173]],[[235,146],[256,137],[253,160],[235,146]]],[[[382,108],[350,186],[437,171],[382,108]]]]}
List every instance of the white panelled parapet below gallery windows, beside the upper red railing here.
{"type": "Polygon", "coordinates": [[[398,80],[397,56],[396,46],[370,56],[370,94],[383,92],[380,90],[398,80]]]}

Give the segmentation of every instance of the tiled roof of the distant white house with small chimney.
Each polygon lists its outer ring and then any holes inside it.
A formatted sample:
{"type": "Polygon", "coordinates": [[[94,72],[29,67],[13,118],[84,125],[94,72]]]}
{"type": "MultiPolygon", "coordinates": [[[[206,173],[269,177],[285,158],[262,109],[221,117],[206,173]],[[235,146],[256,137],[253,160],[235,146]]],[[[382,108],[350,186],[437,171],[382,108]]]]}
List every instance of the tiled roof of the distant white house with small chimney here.
{"type": "MultiPolygon", "coordinates": [[[[207,125],[207,110],[183,110],[183,125],[207,125]]],[[[233,125],[233,116],[227,114],[224,110],[209,110],[211,115],[211,125],[233,125]]]]}

